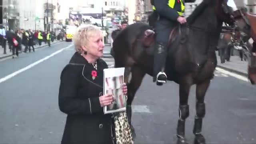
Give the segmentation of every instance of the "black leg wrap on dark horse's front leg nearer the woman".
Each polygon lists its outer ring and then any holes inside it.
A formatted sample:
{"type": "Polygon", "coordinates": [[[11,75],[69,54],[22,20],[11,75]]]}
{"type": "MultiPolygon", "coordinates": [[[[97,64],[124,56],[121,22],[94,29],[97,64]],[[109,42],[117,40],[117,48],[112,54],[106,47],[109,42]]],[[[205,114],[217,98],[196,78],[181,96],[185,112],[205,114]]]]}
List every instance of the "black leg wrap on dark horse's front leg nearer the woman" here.
{"type": "Polygon", "coordinates": [[[185,137],[185,120],[189,116],[189,106],[188,105],[180,105],[179,107],[179,120],[177,126],[177,136],[179,138],[185,137]]]}

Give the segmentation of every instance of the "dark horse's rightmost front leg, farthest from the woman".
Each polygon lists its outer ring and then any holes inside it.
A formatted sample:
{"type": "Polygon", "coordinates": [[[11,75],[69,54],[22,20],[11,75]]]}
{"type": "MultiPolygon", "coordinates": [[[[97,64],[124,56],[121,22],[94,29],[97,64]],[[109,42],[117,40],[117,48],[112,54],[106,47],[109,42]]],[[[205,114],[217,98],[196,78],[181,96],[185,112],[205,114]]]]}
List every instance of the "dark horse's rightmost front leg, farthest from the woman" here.
{"type": "Polygon", "coordinates": [[[195,134],[195,144],[205,144],[205,138],[201,134],[202,132],[202,122],[205,115],[205,104],[204,96],[210,85],[210,80],[206,80],[200,84],[196,85],[196,116],[194,122],[193,133],[195,134]]]}

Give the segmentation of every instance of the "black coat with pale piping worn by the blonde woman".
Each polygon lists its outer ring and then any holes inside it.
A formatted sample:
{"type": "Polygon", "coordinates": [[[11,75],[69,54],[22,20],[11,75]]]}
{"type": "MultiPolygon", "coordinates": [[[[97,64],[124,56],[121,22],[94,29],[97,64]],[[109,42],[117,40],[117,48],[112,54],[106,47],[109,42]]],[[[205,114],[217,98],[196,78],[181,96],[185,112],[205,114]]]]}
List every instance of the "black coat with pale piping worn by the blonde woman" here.
{"type": "Polygon", "coordinates": [[[104,114],[99,96],[103,93],[104,60],[97,60],[95,70],[85,58],[76,52],[60,77],[59,107],[68,114],[61,144],[113,144],[112,118],[104,114]]]}

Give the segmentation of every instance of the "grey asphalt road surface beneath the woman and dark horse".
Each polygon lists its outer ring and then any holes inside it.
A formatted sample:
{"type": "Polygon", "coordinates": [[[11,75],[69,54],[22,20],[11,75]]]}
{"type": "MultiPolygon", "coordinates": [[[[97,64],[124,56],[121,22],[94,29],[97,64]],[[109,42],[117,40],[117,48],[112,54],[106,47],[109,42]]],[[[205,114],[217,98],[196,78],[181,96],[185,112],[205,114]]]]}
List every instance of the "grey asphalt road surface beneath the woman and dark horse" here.
{"type": "MultiPolygon", "coordinates": [[[[60,72],[74,53],[60,42],[0,60],[0,144],[58,144],[66,115],[58,108],[60,72]],[[64,48],[64,49],[63,49],[64,48]]],[[[105,52],[110,48],[106,48],[105,52]]],[[[104,58],[109,66],[112,58],[104,58]]],[[[208,144],[256,143],[256,87],[218,70],[206,94],[203,134],[208,144]]],[[[145,76],[133,103],[136,144],[176,143],[178,85],[156,86],[145,76]]],[[[189,96],[186,138],[192,143],[195,86],[189,96]]]]}

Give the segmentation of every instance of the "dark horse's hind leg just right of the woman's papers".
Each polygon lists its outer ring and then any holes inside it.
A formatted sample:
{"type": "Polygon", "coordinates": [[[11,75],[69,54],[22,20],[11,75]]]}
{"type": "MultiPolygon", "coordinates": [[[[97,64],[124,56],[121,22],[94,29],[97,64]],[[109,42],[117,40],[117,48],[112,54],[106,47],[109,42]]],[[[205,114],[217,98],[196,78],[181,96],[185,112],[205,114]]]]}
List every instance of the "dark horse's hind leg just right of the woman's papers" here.
{"type": "Polygon", "coordinates": [[[132,129],[132,137],[135,138],[135,131],[134,128],[132,126],[131,120],[132,120],[132,101],[134,99],[134,96],[136,94],[136,91],[138,90],[138,88],[140,87],[140,84],[142,82],[142,79],[145,76],[145,72],[143,72],[139,67],[134,66],[132,67],[132,78],[130,80],[130,83],[128,84],[128,100],[127,100],[127,117],[128,117],[128,122],[130,124],[130,127],[132,129]]]}

